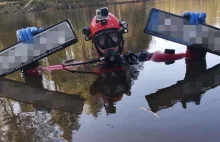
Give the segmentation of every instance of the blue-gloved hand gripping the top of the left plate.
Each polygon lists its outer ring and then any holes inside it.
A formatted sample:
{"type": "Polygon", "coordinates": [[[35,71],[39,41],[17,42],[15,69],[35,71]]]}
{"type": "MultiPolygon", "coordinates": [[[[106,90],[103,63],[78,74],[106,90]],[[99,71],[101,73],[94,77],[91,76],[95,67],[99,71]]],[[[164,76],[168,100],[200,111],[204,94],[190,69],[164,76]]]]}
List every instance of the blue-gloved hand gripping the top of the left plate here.
{"type": "Polygon", "coordinates": [[[40,33],[44,28],[37,29],[36,27],[27,27],[25,29],[20,29],[16,31],[17,39],[21,42],[32,41],[33,36],[37,33],[40,33]]]}

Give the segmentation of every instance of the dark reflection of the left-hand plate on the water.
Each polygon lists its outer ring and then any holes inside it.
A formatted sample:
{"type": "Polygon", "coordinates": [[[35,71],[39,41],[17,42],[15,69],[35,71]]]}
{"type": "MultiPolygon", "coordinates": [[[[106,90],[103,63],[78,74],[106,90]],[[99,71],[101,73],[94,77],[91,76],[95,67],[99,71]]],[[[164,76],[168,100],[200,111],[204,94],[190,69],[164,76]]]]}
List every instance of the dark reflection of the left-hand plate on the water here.
{"type": "Polygon", "coordinates": [[[77,94],[49,91],[5,78],[0,78],[0,97],[76,114],[82,113],[85,102],[77,94]]]}

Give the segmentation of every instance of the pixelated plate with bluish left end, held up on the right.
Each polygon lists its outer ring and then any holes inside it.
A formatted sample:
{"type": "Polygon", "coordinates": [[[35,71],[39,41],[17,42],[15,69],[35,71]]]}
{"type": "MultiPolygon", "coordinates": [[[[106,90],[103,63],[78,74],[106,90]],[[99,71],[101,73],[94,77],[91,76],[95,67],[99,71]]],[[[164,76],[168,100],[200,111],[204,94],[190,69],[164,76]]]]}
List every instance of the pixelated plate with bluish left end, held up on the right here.
{"type": "Polygon", "coordinates": [[[220,29],[208,25],[192,25],[172,13],[151,9],[144,32],[220,55],[220,29]]]}

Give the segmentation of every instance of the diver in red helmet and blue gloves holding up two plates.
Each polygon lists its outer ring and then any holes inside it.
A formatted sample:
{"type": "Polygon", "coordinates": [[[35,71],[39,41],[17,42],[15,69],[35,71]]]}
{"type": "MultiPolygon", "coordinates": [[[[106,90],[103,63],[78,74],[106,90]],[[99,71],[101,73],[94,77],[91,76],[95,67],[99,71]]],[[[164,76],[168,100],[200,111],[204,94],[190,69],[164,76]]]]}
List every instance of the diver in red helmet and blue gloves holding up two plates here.
{"type": "MultiPolygon", "coordinates": [[[[205,13],[185,12],[184,18],[188,18],[192,24],[205,23],[205,13]]],[[[28,27],[17,30],[18,41],[28,41],[33,39],[33,35],[43,31],[44,28],[28,27]]],[[[96,10],[96,16],[93,17],[90,27],[83,29],[85,39],[92,40],[99,58],[104,57],[104,63],[108,65],[121,64],[127,61],[129,64],[136,64],[152,60],[155,62],[170,62],[185,58],[187,60],[197,60],[205,58],[206,52],[187,47],[185,53],[175,54],[175,50],[167,49],[165,52],[156,51],[154,53],[126,52],[122,55],[124,48],[123,34],[128,32],[128,24],[125,21],[117,19],[108,8],[99,8],[96,10]]],[[[22,69],[26,72],[29,69],[39,66],[39,62],[32,63],[22,69]]]]}

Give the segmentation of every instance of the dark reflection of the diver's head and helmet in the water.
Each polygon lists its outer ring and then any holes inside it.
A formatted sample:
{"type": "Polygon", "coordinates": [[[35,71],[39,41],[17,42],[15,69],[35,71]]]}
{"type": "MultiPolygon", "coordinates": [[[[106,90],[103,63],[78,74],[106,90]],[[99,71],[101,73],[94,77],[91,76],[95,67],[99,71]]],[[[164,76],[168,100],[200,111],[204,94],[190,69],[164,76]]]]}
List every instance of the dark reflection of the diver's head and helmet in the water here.
{"type": "Polygon", "coordinates": [[[116,102],[123,95],[131,95],[131,87],[139,75],[142,65],[119,66],[116,68],[96,68],[96,80],[90,86],[90,94],[97,95],[107,114],[116,113],[116,102]]]}

